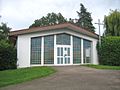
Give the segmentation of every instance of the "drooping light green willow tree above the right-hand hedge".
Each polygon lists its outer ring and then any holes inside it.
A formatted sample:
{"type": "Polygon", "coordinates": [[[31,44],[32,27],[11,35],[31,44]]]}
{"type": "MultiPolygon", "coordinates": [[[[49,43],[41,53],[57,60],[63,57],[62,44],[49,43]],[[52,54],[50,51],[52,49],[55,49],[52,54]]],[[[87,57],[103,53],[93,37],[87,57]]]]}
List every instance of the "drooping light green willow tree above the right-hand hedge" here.
{"type": "Polygon", "coordinates": [[[105,36],[120,36],[120,11],[111,10],[108,16],[104,17],[105,36]]]}

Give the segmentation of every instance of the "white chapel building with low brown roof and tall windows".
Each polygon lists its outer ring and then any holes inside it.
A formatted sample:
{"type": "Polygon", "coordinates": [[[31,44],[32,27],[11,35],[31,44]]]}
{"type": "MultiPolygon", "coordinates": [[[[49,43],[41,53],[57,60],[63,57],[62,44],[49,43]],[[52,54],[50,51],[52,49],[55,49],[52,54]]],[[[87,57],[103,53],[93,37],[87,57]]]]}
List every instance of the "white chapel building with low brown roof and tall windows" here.
{"type": "Polygon", "coordinates": [[[71,23],[10,32],[18,68],[98,64],[98,35],[71,23]]]}

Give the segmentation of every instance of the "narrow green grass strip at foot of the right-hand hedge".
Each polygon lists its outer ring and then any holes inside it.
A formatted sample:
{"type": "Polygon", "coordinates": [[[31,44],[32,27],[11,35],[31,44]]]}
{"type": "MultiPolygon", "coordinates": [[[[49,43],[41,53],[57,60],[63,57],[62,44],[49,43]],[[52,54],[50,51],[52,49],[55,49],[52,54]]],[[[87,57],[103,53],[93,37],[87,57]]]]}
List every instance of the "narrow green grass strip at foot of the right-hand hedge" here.
{"type": "Polygon", "coordinates": [[[120,70],[120,66],[106,66],[106,65],[93,65],[93,64],[87,64],[83,66],[96,68],[96,69],[120,70]]]}

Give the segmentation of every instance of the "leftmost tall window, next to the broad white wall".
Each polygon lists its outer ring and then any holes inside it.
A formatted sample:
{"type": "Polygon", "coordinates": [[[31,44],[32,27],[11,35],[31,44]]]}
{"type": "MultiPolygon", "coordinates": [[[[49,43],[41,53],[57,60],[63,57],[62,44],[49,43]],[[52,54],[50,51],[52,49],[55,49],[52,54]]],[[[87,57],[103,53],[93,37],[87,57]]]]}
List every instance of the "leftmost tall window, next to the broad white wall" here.
{"type": "Polygon", "coordinates": [[[30,64],[41,64],[41,37],[31,38],[30,64]]]}

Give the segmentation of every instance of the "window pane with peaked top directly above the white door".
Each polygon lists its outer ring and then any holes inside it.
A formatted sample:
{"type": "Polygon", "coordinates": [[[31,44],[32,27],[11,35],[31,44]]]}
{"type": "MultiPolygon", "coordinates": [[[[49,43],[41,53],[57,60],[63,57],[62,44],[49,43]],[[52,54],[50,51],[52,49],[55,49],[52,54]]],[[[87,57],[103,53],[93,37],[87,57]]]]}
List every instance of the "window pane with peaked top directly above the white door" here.
{"type": "Polygon", "coordinates": [[[56,36],[56,44],[59,45],[70,45],[70,35],[69,34],[58,34],[56,36]]]}

